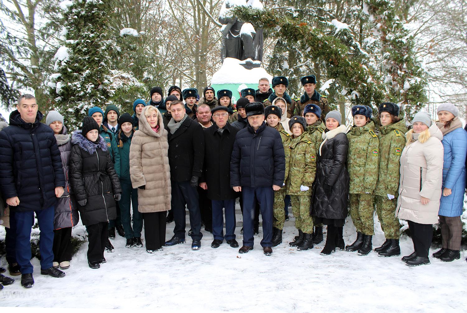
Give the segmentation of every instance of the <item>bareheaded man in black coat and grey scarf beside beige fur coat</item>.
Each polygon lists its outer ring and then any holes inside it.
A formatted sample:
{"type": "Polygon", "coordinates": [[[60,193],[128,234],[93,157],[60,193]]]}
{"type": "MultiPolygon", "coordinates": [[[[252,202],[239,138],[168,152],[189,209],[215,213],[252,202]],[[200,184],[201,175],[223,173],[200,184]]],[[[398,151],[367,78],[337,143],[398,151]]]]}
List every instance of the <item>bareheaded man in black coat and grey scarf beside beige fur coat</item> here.
{"type": "Polygon", "coordinates": [[[169,164],[172,187],[172,210],[175,220],[174,236],[166,246],[185,242],[185,205],[190,212],[192,250],[201,247],[201,214],[198,204],[198,180],[203,170],[205,143],[203,128],[185,112],[181,101],[170,104],[172,119],[169,132],[169,164]]]}

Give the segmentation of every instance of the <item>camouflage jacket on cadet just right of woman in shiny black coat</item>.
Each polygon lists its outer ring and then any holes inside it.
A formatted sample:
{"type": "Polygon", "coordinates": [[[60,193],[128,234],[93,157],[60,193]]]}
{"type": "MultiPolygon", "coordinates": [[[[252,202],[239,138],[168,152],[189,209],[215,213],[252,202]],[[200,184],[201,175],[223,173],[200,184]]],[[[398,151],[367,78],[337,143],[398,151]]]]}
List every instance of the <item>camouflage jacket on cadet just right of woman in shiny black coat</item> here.
{"type": "Polygon", "coordinates": [[[349,194],[373,193],[379,166],[379,139],[375,134],[375,124],[369,121],[365,126],[353,126],[347,132],[347,139],[349,194]]]}

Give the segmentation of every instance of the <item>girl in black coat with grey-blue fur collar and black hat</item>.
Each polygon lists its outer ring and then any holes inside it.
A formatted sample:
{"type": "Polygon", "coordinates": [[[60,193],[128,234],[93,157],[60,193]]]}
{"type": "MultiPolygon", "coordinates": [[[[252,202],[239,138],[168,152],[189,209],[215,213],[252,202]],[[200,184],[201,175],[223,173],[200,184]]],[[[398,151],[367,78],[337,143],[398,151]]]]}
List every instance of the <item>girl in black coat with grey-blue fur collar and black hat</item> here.
{"type": "Polygon", "coordinates": [[[108,222],[117,217],[115,200],[121,197],[120,181],[93,118],[84,118],[82,131],[74,132],[71,141],[70,181],[88,232],[88,264],[99,268],[99,263],[106,262],[108,222]]]}

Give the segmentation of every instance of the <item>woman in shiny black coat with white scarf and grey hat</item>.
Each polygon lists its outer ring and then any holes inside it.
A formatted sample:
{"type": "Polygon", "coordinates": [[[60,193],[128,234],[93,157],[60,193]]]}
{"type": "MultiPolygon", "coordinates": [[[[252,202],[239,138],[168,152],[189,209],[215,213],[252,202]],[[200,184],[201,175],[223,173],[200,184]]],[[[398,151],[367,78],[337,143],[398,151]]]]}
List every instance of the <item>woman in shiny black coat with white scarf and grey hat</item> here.
{"type": "Polygon", "coordinates": [[[344,249],[342,230],[348,214],[349,174],[346,162],[349,142],[347,128],[340,123],[339,111],[326,115],[324,140],[317,151],[311,215],[317,217],[317,223],[327,225],[326,244],[321,255],[335,252],[336,247],[344,249]]]}

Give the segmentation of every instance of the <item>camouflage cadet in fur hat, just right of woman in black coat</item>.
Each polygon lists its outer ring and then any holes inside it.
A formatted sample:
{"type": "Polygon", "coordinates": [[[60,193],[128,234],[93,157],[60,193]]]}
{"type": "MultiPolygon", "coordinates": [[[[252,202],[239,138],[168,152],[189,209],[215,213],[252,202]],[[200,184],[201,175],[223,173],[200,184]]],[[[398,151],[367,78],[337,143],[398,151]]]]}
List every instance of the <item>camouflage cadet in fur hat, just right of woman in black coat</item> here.
{"type": "Polygon", "coordinates": [[[359,255],[371,251],[371,238],[375,234],[373,191],[378,180],[379,139],[370,120],[372,112],[366,105],[352,107],[354,126],[347,132],[350,216],[357,229],[357,240],[346,246],[346,250],[358,250],[359,255]]]}

